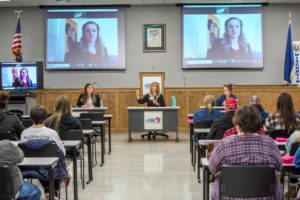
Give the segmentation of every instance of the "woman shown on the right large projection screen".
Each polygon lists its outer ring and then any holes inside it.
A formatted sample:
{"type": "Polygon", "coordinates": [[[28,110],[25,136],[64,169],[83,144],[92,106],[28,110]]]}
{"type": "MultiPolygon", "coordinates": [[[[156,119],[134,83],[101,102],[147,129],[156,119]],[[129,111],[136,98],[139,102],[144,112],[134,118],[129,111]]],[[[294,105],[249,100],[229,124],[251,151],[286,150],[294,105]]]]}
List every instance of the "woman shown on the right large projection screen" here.
{"type": "Polygon", "coordinates": [[[243,32],[243,22],[237,17],[225,21],[223,38],[215,40],[212,48],[207,51],[207,58],[220,59],[251,59],[252,51],[243,32]]]}

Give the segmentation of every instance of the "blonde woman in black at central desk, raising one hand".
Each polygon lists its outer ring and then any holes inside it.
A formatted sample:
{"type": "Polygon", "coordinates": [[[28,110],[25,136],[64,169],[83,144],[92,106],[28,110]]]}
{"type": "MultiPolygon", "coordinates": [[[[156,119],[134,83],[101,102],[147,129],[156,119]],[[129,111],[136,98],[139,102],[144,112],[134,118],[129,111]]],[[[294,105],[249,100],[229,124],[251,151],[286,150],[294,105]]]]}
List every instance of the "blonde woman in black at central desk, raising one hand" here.
{"type": "MultiPolygon", "coordinates": [[[[166,106],[164,96],[160,93],[159,83],[153,82],[150,86],[150,92],[140,98],[140,91],[136,91],[136,99],[139,104],[147,103],[148,107],[164,107],[166,106]]],[[[148,139],[151,139],[151,135],[153,134],[153,139],[156,138],[156,132],[149,132],[148,139]]],[[[164,135],[168,138],[167,135],[164,135]]]]}

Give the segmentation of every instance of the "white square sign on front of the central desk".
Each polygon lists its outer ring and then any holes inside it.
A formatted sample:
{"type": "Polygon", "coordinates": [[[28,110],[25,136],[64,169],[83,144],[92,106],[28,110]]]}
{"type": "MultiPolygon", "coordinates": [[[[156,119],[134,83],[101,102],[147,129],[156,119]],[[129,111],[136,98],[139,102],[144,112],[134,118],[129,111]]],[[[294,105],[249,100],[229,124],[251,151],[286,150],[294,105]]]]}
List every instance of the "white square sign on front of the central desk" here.
{"type": "Polygon", "coordinates": [[[163,129],[162,111],[145,111],[144,112],[144,129],[145,130],[162,130],[163,129]]]}

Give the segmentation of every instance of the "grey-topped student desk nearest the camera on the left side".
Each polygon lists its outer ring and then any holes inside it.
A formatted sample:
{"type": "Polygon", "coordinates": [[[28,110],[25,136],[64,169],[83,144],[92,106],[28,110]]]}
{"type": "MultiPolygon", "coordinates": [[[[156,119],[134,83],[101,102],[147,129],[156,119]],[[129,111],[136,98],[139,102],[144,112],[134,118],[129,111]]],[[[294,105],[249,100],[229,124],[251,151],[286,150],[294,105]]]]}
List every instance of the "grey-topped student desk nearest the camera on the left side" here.
{"type": "Polygon", "coordinates": [[[43,170],[48,171],[50,200],[54,200],[54,177],[53,168],[56,167],[58,158],[24,158],[23,162],[18,164],[21,170],[43,170]]]}

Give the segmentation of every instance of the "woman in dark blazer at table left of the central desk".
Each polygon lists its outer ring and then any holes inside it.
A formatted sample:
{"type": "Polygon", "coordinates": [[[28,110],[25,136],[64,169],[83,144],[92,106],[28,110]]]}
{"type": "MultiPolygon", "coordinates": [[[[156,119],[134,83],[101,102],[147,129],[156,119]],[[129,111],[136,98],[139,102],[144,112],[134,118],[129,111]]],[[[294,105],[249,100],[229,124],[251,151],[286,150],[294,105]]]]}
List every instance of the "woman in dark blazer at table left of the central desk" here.
{"type": "Polygon", "coordinates": [[[100,107],[101,98],[98,94],[94,94],[94,86],[87,83],[84,86],[84,93],[80,94],[76,106],[82,108],[100,107]]]}

